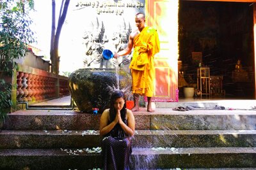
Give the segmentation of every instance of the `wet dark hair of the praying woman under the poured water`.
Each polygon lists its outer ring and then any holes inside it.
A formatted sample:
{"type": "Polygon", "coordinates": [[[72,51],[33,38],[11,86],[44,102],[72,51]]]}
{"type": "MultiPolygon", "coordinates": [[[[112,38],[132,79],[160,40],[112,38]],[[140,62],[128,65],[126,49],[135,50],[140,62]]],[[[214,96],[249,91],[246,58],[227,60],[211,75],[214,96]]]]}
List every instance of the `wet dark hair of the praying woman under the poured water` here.
{"type": "Polygon", "coordinates": [[[126,117],[126,98],[124,95],[124,92],[116,90],[115,92],[113,92],[113,94],[111,95],[110,98],[110,108],[109,108],[109,116],[110,116],[110,121],[113,122],[113,120],[115,120],[116,117],[116,110],[115,110],[115,101],[119,98],[123,98],[124,99],[124,107],[122,108],[122,110],[120,110],[121,113],[121,118],[124,121],[125,117],[126,117]]]}

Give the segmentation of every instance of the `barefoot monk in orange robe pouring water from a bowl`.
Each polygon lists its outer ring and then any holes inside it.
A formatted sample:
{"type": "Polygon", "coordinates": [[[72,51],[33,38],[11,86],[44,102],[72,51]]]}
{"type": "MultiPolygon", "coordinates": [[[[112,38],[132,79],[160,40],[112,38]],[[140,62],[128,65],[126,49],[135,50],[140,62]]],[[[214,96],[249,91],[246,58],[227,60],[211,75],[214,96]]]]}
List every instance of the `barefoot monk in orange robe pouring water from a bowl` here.
{"type": "Polygon", "coordinates": [[[156,29],[145,27],[145,15],[136,14],[136,27],[138,29],[131,32],[127,47],[114,54],[115,59],[119,56],[127,55],[134,47],[134,53],[129,68],[132,73],[132,94],[134,97],[134,108],[132,111],[139,111],[139,97],[147,96],[147,111],[152,109],[152,97],[154,92],[154,55],[159,52],[159,38],[156,29]]]}

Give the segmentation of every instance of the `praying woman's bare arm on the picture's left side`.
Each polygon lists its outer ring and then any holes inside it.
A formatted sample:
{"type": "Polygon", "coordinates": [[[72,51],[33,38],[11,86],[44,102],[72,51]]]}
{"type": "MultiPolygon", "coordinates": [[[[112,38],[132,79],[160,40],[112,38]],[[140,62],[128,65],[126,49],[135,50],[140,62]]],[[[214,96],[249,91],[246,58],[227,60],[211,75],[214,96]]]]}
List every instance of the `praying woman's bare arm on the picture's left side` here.
{"type": "Polygon", "coordinates": [[[100,117],[100,136],[104,136],[110,132],[118,122],[118,114],[116,114],[115,120],[108,125],[109,110],[104,110],[100,117]]]}

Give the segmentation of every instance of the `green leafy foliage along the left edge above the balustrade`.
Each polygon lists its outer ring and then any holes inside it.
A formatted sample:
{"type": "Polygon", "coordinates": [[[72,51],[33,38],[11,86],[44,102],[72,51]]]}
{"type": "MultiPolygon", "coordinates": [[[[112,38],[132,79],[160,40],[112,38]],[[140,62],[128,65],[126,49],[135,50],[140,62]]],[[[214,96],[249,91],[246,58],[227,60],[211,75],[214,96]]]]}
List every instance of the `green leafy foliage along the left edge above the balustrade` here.
{"type": "Polygon", "coordinates": [[[13,104],[12,85],[3,80],[3,74],[12,75],[18,69],[13,59],[25,57],[27,45],[35,42],[28,15],[33,8],[31,0],[0,1],[0,121],[7,116],[6,108],[13,104]]]}

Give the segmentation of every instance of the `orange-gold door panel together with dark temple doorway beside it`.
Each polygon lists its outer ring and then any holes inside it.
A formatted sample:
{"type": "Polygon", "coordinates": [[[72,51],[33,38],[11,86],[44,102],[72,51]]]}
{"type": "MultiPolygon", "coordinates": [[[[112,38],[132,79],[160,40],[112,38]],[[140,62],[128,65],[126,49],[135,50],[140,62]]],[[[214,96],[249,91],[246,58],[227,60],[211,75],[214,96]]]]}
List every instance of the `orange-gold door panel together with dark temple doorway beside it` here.
{"type": "Polygon", "coordinates": [[[161,41],[154,101],[255,99],[254,2],[147,1],[161,41]]]}

